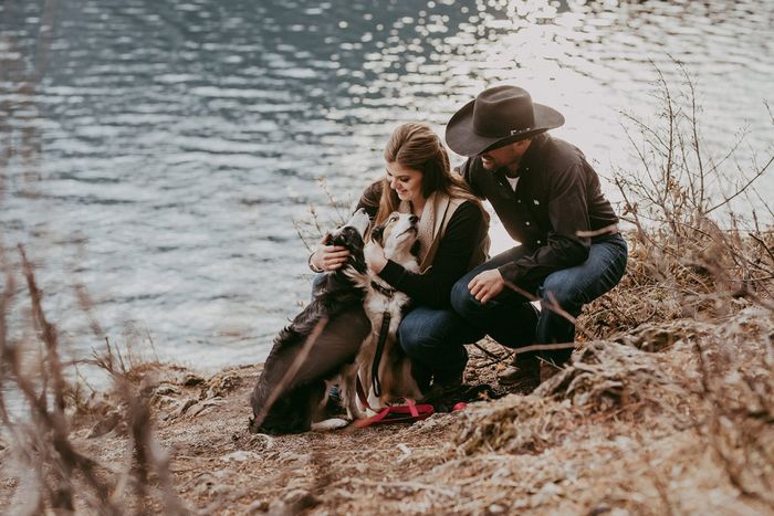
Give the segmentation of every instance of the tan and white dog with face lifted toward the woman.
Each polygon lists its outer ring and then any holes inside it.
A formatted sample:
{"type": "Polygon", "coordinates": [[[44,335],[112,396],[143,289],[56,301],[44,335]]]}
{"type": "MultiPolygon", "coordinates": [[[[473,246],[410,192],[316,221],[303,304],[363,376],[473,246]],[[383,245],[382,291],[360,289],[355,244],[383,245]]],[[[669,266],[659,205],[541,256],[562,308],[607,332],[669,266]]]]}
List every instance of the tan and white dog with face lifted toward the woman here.
{"type": "MultiPolygon", "coordinates": [[[[393,212],[384,223],[372,230],[366,249],[379,245],[387,260],[408,272],[419,273],[418,222],[419,218],[414,214],[393,212]]],[[[409,296],[391,287],[370,268],[366,274],[354,276],[355,283],[366,292],[364,307],[372,331],[363,343],[348,378],[344,379],[347,387],[343,391],[347,396],[343,401],[351,418],[363,418],[367,415],[366,408],[378,410],[398,398],[418,399],[421,392],[411,376],[411,361],[397,341],[398,326],[410,302],[409,296]],[[381,352],[377,352],[380,338],[384,339],[384,347],[381,352]],[[378,361],[376,365],[375,359],[378,361]],[[358,378],[367,393],[367,407],[355,394],[358,378]]]]}

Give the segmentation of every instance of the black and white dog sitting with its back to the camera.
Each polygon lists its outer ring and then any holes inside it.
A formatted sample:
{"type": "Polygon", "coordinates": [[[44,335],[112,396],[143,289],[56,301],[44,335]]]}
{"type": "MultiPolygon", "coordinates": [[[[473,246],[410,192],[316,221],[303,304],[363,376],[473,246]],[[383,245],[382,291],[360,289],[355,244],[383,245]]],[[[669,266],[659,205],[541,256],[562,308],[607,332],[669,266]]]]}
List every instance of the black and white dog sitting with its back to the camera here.
{"type": "MultiPolygon", "coordinates": [[[[326,382],[337,382],[341,373],[352,376],[352,362],[328,364],[328,356],[336,354],[324,345],[314,346],[313,340],[326,330],[344,333],[338,337],[346,340],[346,333],[351,331],[352,339],[359,344],[367,334],[367,327],[364,328],[360,320],[362,312],[356,308],[363,305],[365,295],[358,278],[368,275],[363,254],[368,225],[368,214],[360,209],[346,224],[328,235],[326,244],[346,248],[349,260],[336,271],[325,273],[322,284],[313,293],[312,302],[274,339],[250,398],[253,410],[251,432],[297,433],[314,429],[315,423],[323,419],[326,382]],[[325,323],[330,324],[323,328],[325,323]]],[[[320,338],[324,340],[324,337],[320,338]]],[[[356,398],[355,391],[347,389],[354,383],[341,381],[341,385],[343,400],[356,398]]],[[[347,401],[345,406],[348,406],[347,401]]],[[[322,423],[322,428],[346,424],[342,420],[330,421],[322,423]]]]}

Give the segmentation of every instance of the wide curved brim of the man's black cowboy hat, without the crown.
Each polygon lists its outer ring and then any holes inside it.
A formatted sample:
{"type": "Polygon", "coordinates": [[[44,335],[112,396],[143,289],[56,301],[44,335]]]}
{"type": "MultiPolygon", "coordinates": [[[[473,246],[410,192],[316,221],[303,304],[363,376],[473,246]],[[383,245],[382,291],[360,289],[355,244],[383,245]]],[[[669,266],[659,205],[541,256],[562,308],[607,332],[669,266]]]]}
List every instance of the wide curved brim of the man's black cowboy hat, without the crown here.
{"type": "Polygon", "coordinates": [[[513,144],[526,138],[531,138],[548,129],[555,129],[564,124],[564,116],[553,107],[543,104],[532,104],[535,115],[535,127],[516,136],[482,136],[473,130],[473,107],[475,101],[471,101],[460,110],[454,113],[446,126],[446,143],[451,150],[461,155],[473,157],[485,150],[490,150],[502,145],[513,144]]]}

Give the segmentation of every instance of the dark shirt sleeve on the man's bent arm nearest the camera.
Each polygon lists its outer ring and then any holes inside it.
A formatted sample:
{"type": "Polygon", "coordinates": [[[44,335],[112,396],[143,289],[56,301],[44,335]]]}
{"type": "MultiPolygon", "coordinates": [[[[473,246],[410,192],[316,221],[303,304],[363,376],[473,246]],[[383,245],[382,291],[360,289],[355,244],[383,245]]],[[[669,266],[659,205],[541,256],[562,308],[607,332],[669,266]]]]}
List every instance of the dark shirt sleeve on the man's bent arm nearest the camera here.
{"type": "Polygon", "coordinates": [[[548,219],[553,228],[545,245],[515,262],[499,267],[503,278],[529,292],[535,292],[551,273],[586,261],[592,248],[588,236],[588,203],[583,164],[571,165],[550,185],[548,219]]]}

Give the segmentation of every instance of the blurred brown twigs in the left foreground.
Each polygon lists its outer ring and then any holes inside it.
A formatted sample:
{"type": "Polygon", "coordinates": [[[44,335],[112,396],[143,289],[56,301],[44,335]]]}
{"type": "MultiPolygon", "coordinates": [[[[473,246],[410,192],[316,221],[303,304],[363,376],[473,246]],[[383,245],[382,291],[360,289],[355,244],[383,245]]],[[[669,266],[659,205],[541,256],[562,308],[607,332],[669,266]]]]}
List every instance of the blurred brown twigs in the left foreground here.
{"type": "MultiPolygon", "coordinates": [[[[21,245],[19,253],[41,352],[34,360],[22,360],[22,349],[28,343],[11,343],[8,338],[4,308],[13,299],[14,281],[4,256],[0,256],[3,259],[0,264],[7,271],[0,307],[3,308],[3,318],[0,319],[0,417],[9,436],[10,452],[2,466],[4,474],[15,478],[10,499],[14,512],[118,515],[127,508],[138,513],[153,508],[168,514],[185,513],[171,486],[168,456],[153,434],[147,397],[135,388],[127,370],[115,368],[112,355],[98,362],[112,375],[115,382],[113,396],[119,400],[113,407],[112,424],[118,427],[121,422],[127,429],[124,465],[100,462],[83,453],[71,439],[73,418],[67,394],[76,390],[66,379],[56,327],[43,310],[43,294],[38,287],[33,266],[21,245]],[[7,389],[22,398],[25,414],[12,417],[9,412],[4,399],[7,389]]],[[[79,400],[80,397],[70,399],[79,400]]]]}

